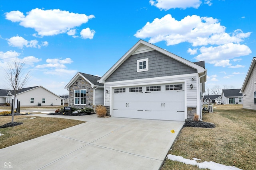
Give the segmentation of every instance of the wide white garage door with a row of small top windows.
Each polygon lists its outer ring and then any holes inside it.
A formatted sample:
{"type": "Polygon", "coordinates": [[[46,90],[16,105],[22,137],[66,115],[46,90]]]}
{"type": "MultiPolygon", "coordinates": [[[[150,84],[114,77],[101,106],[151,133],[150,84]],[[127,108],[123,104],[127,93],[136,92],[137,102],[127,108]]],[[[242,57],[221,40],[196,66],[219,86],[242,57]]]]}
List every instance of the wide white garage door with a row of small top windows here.
{"type": "Polygon", "coordinates": [[[184,121],[184,84],[114,88],[112,117],[184,121]]]}

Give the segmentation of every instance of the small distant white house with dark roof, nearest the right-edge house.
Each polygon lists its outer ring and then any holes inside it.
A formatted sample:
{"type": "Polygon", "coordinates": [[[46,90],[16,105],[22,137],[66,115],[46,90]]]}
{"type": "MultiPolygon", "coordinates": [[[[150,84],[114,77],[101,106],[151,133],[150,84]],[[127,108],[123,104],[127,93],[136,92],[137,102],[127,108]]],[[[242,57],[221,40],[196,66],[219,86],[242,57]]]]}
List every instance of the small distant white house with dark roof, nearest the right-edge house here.
{"type": "Polygon", "coordinates": [[[221,94],[222,104],[243,104],[243,96],[239,89],[223,89],[221,94]]]}

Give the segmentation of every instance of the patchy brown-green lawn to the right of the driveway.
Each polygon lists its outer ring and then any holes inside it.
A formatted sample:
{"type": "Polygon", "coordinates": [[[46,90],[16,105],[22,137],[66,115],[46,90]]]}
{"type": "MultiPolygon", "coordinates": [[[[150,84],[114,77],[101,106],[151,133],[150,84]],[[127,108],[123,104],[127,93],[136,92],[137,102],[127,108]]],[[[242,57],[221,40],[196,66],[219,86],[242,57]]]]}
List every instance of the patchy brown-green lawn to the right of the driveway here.
{"type": "MultiPolygon", "coordinates": [[[[168,154],[256,170],[256,111],[242,109],[242,105],[213,107],[217,107],[214,113],[203,114],[203,120],[216,127],[184,127],[168,154]]],[[[162,170],[178,169],[199,170],[197,166],[172,160],[162,165],[162,170]]]]}

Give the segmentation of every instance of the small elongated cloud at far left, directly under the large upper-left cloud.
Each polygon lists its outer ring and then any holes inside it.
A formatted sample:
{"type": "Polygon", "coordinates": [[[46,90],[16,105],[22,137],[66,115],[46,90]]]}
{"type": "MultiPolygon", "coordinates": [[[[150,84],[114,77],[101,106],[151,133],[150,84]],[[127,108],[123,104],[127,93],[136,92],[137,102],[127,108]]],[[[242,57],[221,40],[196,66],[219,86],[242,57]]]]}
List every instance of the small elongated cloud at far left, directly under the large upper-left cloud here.
{"type": "Polygon", "coordinates": [[[10,39],[7,39],[7,41],[10,46],[18,47],[20,49],[23,49],[23,47],[40,48],[41,46],[48,46],[47,41],[43,41],[41,45],[38,45],[37,40],[28,41],[20,36],[11,37],[10,39]]]}

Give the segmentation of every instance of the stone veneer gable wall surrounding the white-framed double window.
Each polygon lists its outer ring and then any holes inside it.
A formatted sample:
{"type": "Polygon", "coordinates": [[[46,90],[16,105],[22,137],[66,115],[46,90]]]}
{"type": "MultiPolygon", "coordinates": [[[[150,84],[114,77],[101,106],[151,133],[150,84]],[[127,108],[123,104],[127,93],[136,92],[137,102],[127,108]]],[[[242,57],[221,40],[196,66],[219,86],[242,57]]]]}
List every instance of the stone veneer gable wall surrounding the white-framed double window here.
{"type": "Polygon", "coordinates": [[[69,106],[82,109],[85,107],[93,108],[93,88],[81,76],[69,88],[69,106]],[[74,105],[74,90],[86,89],[86,105],[74,105]]]}

